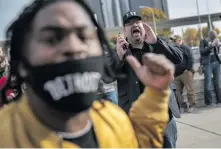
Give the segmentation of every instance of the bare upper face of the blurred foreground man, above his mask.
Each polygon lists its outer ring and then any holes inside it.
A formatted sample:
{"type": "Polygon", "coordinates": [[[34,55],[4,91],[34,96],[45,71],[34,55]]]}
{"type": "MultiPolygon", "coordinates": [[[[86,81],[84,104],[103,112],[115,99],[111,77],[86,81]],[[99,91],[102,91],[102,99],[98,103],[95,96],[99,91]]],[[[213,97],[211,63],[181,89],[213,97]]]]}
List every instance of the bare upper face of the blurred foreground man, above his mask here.
{"type": "Polygon", "coordinates": [[[57,2],[40,10],[27,40],[25,57],[32,66],[102,55],[95,27],[73,1],[57,2]]]}

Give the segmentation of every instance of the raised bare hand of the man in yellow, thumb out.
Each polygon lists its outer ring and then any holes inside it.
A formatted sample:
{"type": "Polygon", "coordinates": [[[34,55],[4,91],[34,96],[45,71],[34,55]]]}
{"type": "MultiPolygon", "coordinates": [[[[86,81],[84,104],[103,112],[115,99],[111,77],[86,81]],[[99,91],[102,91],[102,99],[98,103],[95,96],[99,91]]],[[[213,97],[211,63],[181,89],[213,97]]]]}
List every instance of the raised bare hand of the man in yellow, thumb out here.
{"type": "Polygon", "coordinates": [[[128,56],[127,61],[145,86],[165,90],[174,78],[174,65],[163,55],[145,54],[143,65],[134,56],[128,56]]]}

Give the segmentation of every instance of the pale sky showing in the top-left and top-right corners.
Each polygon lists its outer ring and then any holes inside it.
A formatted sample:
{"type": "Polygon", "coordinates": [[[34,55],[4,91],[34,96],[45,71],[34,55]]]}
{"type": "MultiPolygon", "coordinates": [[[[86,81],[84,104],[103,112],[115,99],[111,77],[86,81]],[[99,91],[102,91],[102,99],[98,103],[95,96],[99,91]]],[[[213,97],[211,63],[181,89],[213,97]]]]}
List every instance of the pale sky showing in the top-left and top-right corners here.
{"type": "MultiPolygon", "coordinates": [[[[4,39],[4,32],[7,25],[16,17],[25,4],[31,0],[0,0],[0,40],[4,39]]],[[[210,13],[221,13],[221,0],[208,0],[210,13]]],[[[196,0],[168,0],[170,18],[182,18],[194,16],[197,14],[196,0]]],[[[200,14],[207,14],[207,0],[199,0],[200,14]]],[[[221,23],[216,22],[216,26],[221,28],[221,23]]],[[[196,25],[193,25],[196,27],[196,25]]],[[[180,34],[181,28],[176,27],[173,30],[180,34]]]]}

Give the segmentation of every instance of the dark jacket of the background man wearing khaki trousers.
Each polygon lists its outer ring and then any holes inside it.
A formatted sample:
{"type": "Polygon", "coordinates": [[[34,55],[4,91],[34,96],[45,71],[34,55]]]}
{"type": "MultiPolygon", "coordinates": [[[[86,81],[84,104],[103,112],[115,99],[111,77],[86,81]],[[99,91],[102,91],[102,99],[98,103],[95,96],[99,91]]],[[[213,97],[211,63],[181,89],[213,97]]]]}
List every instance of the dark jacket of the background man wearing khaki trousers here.
{"type": "Polygon", "coordinates": [[[183,44],[179,48],[183,53],[183,60],[180,64],[175,65],[175,76],[183,74],[185,70],[193,72],[194,56],[192,50],[183,44]]]}

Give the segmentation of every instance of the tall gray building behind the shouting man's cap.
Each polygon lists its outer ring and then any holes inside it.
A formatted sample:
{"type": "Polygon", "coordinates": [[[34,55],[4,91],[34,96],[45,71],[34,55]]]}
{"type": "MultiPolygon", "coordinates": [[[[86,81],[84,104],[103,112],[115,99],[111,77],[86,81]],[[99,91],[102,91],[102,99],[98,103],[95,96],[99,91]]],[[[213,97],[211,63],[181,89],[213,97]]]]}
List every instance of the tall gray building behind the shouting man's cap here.
{"type": "MultiPolygon", "coordinates": [[[[85,0],[97,15],[102,27],[122,26],[122,16],[128,12],[139,12],[139,6],[160,9],[168,16],[167,0],[85,0]]],[[[169,17],[169,16],[168,16],[169,17]]]]}

